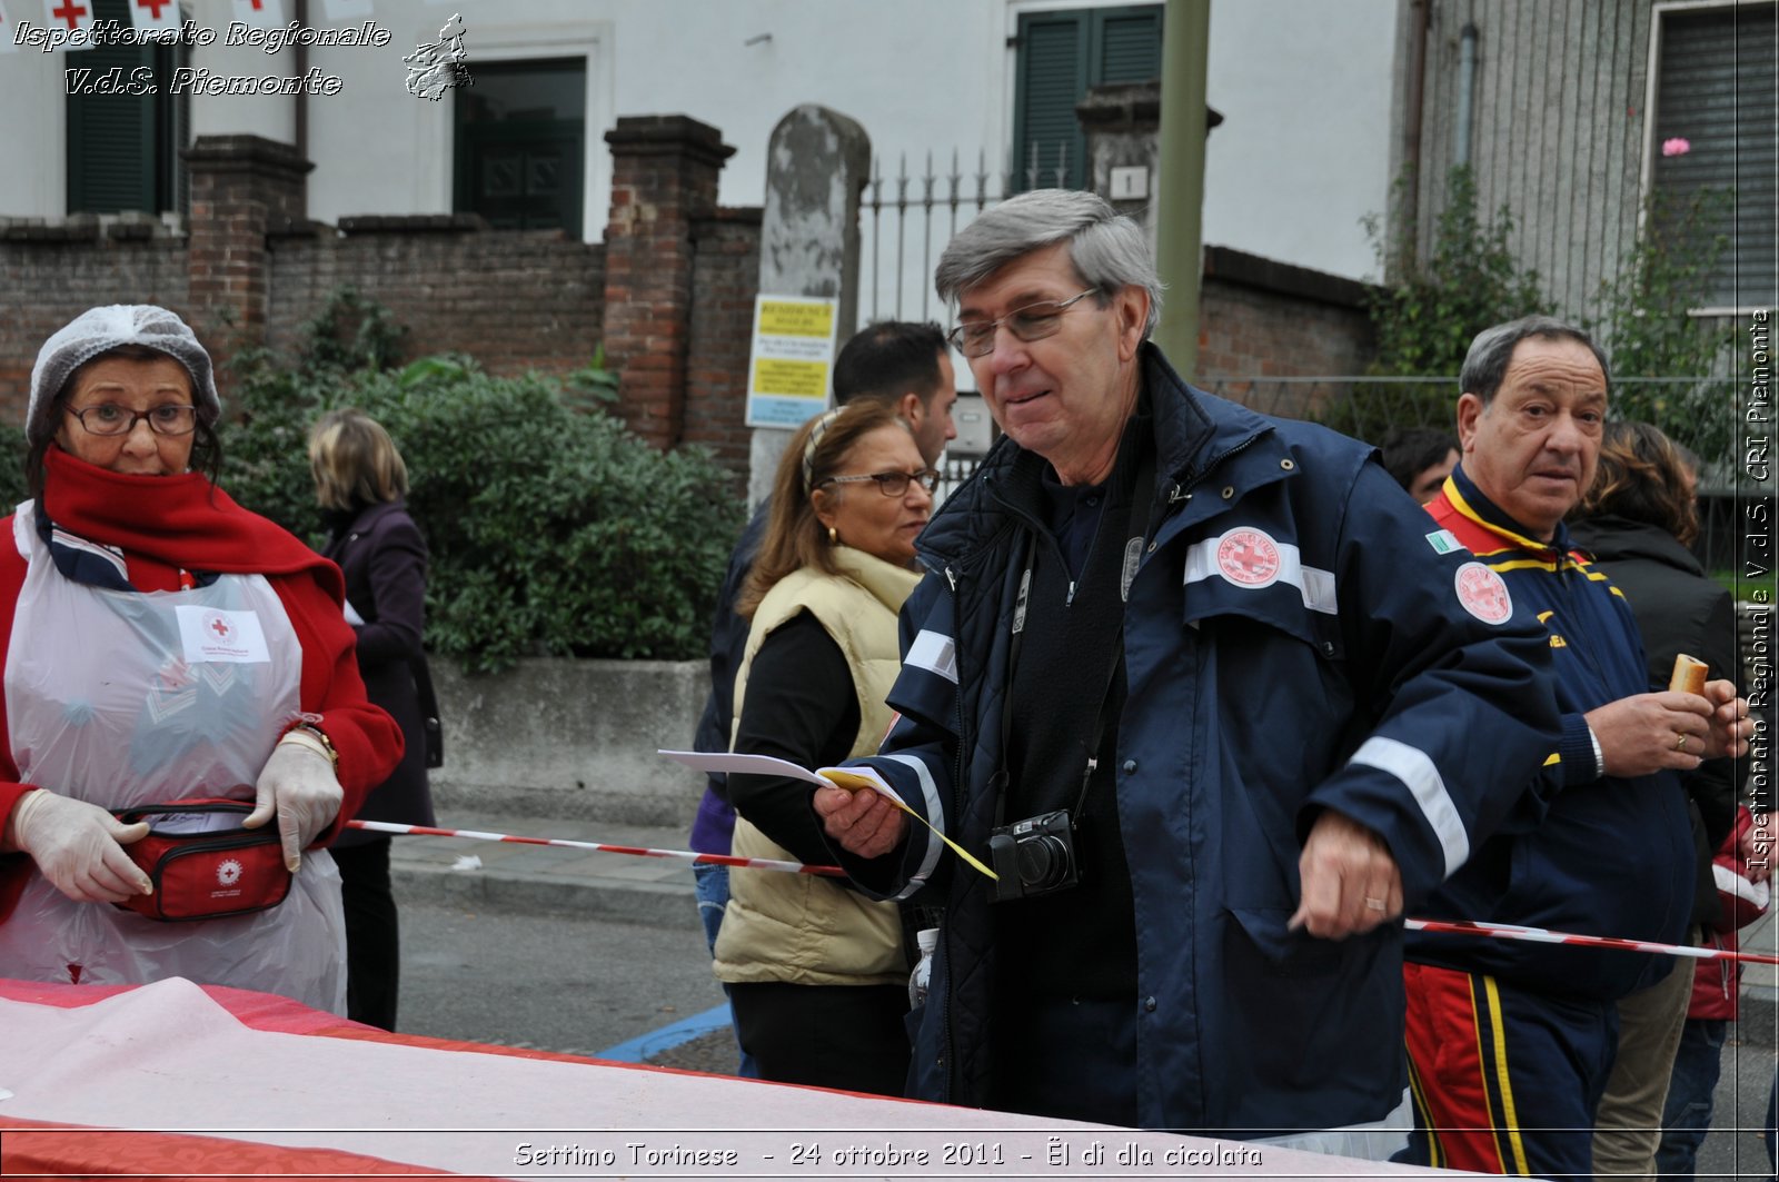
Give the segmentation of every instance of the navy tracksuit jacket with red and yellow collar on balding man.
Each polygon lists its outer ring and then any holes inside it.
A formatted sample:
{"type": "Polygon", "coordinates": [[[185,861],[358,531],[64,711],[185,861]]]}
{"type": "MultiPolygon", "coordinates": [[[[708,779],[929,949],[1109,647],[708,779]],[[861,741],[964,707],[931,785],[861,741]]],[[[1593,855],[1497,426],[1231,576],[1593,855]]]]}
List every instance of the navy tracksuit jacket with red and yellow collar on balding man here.
{"type": "MultiPolygon", "coordinates": [[[[1516,611],[1544,621],[1564,737],[1560,762],[1546,769],[1548,815],[1535,830],[1498,833],[1425,913],[1685,943],[1694,846],[1679,776],[1598,776],[1583,719],[1587,710],[1649,691],[1630,603],[1571,552],[1566,525],[1558,522],[1550,543],[1537,541],[1482,495],[1462,465],[1427,511],[1500,575],[1516,611]]],[[[1411,935],[1409,959],[1589,1000],[1624,997],[1672,967],[1670,958],[1647,952],[1427,933],[1411,935]]]]}

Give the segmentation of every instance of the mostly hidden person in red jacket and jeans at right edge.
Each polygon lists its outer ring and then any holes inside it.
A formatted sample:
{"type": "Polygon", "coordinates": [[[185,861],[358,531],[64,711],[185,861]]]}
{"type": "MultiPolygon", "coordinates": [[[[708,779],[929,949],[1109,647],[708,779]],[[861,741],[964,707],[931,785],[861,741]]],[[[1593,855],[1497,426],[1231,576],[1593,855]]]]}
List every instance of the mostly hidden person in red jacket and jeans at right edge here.
{"type": "MultiPolygon", "coordinates": [[[[1767,913],[1770,903],[1765,860],[1751,858],[1754,817],[1747,806],[1736,814],[1735,831],[1724,838],[1711,863],[1720,913],[1706,929],[1701,947],[1736,951],[1736,931],[1767,913]]],[[[1724,1040],[1736,1020],[1742,965],[1731,959],[1703,959],[1692,977],[1692,1004],[1681,1027],[1674,1075],[1669,1081],[1667,1107],[1662,1111],[1662,1145],[1656,1148],[1660,1177],[1690,1178],[1711,1130],[1711,1100],[1724,1059],[1724,1040]]]]}

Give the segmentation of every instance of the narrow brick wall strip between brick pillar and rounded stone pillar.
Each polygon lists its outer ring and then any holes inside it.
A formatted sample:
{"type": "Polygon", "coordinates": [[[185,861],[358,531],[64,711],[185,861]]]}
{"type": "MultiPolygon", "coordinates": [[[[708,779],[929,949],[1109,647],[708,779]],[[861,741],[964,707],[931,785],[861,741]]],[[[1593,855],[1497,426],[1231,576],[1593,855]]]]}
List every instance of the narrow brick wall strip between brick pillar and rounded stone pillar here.
{"type": "Polygon", "coordinates": [[[747,349],[760,290],[760,210],[719,210],[692,226],[690,347],[685,370],[685,443],[703,443],[747,481],[747,349]]]}

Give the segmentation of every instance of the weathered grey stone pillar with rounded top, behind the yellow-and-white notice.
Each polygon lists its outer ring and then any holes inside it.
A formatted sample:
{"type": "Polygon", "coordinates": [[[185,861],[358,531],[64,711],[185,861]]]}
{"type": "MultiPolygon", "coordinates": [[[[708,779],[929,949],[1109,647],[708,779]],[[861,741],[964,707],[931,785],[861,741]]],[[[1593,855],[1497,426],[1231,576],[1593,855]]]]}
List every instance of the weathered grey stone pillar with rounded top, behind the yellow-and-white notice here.
{"type": "MultiPolygon", "coordinates": [[[[827,107],[806,103],[772,128],[760,294],[838,299],[836,349],[857,326],[859,199],[870,166],[872,141],[865,128],[827,107]]],[[[749,506],[772,491],[772,474],[790,436],[777,427],[754,431],[747,454],[749,506]]]]}

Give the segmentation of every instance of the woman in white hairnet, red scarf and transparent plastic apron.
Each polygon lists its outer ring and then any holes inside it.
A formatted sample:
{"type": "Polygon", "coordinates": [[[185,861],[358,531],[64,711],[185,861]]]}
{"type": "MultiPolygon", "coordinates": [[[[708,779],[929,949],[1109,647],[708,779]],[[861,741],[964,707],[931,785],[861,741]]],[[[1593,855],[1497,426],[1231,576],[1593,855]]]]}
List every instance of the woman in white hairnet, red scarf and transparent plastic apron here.
{"type": "Polygon", "coordinates": [[[93,308],[37,354],[32,500],[0,523],[0,977],[343,1013],[320,846],[402,735],[365,700],[338,568],[215,486],[219,413],[164,308],[93,308]]]}

